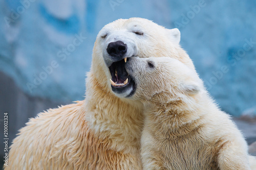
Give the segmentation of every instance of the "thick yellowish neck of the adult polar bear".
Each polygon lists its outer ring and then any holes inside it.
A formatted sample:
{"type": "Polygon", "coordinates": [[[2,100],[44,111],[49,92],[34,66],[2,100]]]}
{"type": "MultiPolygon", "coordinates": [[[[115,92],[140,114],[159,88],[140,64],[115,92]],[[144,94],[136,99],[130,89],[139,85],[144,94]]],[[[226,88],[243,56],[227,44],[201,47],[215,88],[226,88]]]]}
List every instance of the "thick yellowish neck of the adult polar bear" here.
{"type": "Polygon", "coordinates": [[[117,98],[93,74],[88,75],[86,120],[96,136],[109,140],[111,149],[126,153],[139,151],[144,119],[142,111],[142,103],[117,98]]]}

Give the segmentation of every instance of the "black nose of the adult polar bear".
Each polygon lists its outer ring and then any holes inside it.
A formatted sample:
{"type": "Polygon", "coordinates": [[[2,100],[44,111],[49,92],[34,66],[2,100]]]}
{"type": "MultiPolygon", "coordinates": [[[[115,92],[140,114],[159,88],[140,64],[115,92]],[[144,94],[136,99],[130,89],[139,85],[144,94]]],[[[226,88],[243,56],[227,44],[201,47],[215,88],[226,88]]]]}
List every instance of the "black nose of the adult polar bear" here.
{"type": "Polygon", "coordinates": [[[122,41],[111,42],[106,51],[113,57],[121,57],[127,51],[127,45],[122,41]]]}

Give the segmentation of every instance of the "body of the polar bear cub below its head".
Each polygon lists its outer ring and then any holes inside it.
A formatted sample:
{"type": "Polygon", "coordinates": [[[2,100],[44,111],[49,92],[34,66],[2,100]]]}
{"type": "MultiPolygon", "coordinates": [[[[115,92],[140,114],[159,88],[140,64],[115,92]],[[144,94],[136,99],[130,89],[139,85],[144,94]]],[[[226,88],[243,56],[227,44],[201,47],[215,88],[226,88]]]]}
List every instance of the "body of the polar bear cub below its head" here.
{"type": "Polygon", "coordinates": [[[247,144],[226,113],[215,108],[188,117],[165,111],[146,111],[144,169],[249,169],[247,144]]]}

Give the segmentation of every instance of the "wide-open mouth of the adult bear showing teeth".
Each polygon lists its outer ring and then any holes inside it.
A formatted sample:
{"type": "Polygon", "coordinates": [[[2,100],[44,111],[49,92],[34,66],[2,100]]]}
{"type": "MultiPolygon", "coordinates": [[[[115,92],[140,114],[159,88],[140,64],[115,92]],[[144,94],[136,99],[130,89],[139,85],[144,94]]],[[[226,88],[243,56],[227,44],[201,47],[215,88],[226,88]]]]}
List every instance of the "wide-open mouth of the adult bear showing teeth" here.
{"type": "Polygon", "coordinates": [[[127,94],[126,97],[131,96],[135,90],[135,82],[124,67],[127,60],[129,58],[113,62],[109,67],[112,77],[110,79],[112,91],[118,94],[125,93],[127,94]]]}

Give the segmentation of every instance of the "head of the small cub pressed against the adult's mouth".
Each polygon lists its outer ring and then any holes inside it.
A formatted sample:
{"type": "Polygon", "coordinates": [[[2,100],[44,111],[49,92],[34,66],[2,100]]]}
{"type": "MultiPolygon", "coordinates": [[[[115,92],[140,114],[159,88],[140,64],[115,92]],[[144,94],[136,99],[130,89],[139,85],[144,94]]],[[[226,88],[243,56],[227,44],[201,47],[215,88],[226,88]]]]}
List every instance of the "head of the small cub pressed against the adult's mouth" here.
{"type": "Polygon", "coordinates": [[[137,86],[131,96],[135,100],[166,103],[203,89],[197,72],[173,58],[132,57],[125,68],[137,86]]]}

